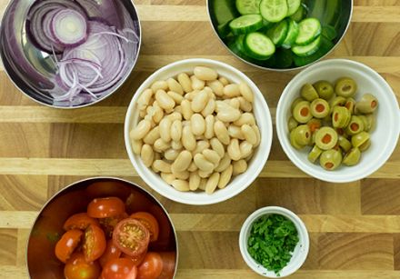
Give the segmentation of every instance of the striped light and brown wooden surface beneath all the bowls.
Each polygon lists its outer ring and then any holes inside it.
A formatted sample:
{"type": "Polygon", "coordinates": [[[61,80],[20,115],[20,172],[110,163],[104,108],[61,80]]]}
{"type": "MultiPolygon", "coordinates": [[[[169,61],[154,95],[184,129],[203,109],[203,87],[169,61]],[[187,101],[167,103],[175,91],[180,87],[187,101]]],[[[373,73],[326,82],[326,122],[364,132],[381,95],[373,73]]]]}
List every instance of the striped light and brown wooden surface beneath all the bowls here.
{"type": "MultiPolygon", "coordinates": [[[[0,0],[0,15],[6,4],[0,0]]],[[[228,54],[208,23],[205,0],[135,0],[135,4],[143,30],[138,64],[123,88],[98,105],[73,111],[37,105],[18,92],[0,66],[1,278],[27,277],[29,229],[42,204],[66,184],[115,175],[145,185],[125,154],[123,123],[135,89],[157,68],[188,57],[234,65],[259,86],[273,116],[280,93],[295,75],[260,71],[228,54]]],[[[400,100],[400,1],[355,0],[352,25],[330,57],[372,66],[400,100]]],[[[299,171],[274,135],[260,178],[235,198],[200,207],[156,196],[178,231],[176,278],[258,278],[242,260],[237,241],[245,217],[265,205],[293,210],[309,230],[308,259],[291,278],[400,278],[398,145],[370,177],[329,184],[299,171]]]]}

